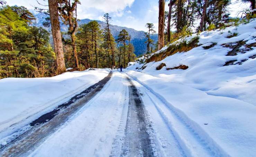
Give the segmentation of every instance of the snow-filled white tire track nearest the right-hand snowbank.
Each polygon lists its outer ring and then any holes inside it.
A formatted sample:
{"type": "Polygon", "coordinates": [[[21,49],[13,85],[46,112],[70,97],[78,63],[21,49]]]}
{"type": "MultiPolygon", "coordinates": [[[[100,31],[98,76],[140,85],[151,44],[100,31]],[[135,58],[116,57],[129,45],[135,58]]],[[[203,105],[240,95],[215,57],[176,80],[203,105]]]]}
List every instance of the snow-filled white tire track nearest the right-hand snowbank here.
{"type": "Polygon", "coordinates": [[[159,114],[185,151],[186,156],[222,156],[218,148],[214,147],[211,143],[207,143],[207,141],[200,137],[172,106],[151,92],[150,89],[139,81],[134,78],[133,80],[144,88],[145,93],[154,103],[159,114]]]}

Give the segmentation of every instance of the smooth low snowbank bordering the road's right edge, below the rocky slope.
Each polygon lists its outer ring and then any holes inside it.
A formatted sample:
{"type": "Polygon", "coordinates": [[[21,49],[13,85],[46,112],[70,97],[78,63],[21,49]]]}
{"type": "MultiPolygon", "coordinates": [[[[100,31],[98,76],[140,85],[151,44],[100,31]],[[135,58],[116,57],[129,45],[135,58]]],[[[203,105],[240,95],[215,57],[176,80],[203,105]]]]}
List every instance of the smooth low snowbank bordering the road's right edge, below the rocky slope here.
{"type": "Polygon", "coordinates": [[[233,98],[207,95],[145,73],[127,74],[166,102],[217,156],[256,154],[256,106],[233,98]]]}

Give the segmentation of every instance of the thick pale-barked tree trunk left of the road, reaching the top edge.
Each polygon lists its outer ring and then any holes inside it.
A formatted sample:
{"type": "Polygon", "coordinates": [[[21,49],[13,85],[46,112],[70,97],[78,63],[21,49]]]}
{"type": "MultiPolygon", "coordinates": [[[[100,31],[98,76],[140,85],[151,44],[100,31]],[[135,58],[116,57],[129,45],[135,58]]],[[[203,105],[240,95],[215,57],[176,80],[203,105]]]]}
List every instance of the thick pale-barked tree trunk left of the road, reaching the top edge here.
{"type": "Polygon", "coordinates": [[[57,0],[48,0],[48,4],[49,4],[51,25],[52,25],[54,51],[55,51],[56,62],[57,62],[57,74],[60,74],[66,71],[66,67],[65,67],[64,53],[63,53],[63,47],[62,47],[60,21],[58,18],[58,8],[57,8],[58,4],[57,4],[57,0]]]}

